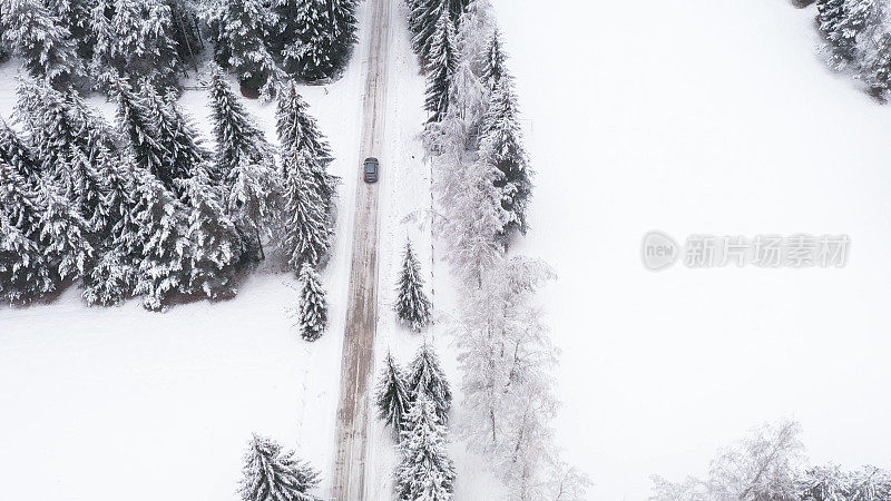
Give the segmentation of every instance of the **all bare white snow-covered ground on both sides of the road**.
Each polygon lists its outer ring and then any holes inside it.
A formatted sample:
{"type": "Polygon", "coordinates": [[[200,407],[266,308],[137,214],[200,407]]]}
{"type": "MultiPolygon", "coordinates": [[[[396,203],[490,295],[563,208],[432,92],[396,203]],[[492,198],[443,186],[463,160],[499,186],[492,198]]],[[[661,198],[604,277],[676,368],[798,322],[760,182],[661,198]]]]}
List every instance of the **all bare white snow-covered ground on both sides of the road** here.
{"type": "MultiPolygon", "coordinates": [[[[891,466],[891,108],[815,55],[813,8],[771,0],[495,0],[538,171],[519,250],[550,263],[541,294],[556,344],[567,459],[593,499],[639,500],[648,477],[702,473],[716,448],[765,420],[801,421],[814,462],[891,466]],[[555,8],[558,6],[558,8],[555,8]],[[594,21],[591,21],[594,20],[594,21]],[[591,24],[593,22],[593,24],[591,24]],[[644,233],[848,234],[841,269],[654,274],[644,233]]],[[[87,308],[77,291],[0,308],[0,478],[17,500],[234,500],[251,432],[297,448],[327,493],[349,279],[366,19],[344,78],[303,88],[343,177],[332,324],[300,341],[296,281],[265,271],[237,298],[145,312],[87,308]],[[136,485],[136,488],[134,488],[136,485]]],[[[399,13],[403,14],[402,11],[399,13]]],[[[376,355],[407,363],[422,341],[395,325],[407,236],[430,273],[429,166],[414,139],[423,79],[408,32],[392,36],[380,184],[376,355]],[[410,216],[420,214],[419,218],[410,216]]],[[[14,96],[0,67],[0,115],[14,96]]],[[[110,105],[90,104],[109,117],[110,105]]],[[[183,108],[209,131],[204,91],[183,108]]],[[[274,140],[274,105],[248,109],[274,140]]],[[[451,382],[448,267],[433,267],[428,334],[451,382]]],[[[376,375],[375,370],[375,375],[376,375]]],[[[456,397],[460,402],[460,396],[456,397]]],[[[457,410],[460,412],[460,409],[457,410]]],[[[373,425],[374,499],[395,456],[373,425]]],[[[457,500],[495,498],[484,464],[452,444],[457,500]]]]}

